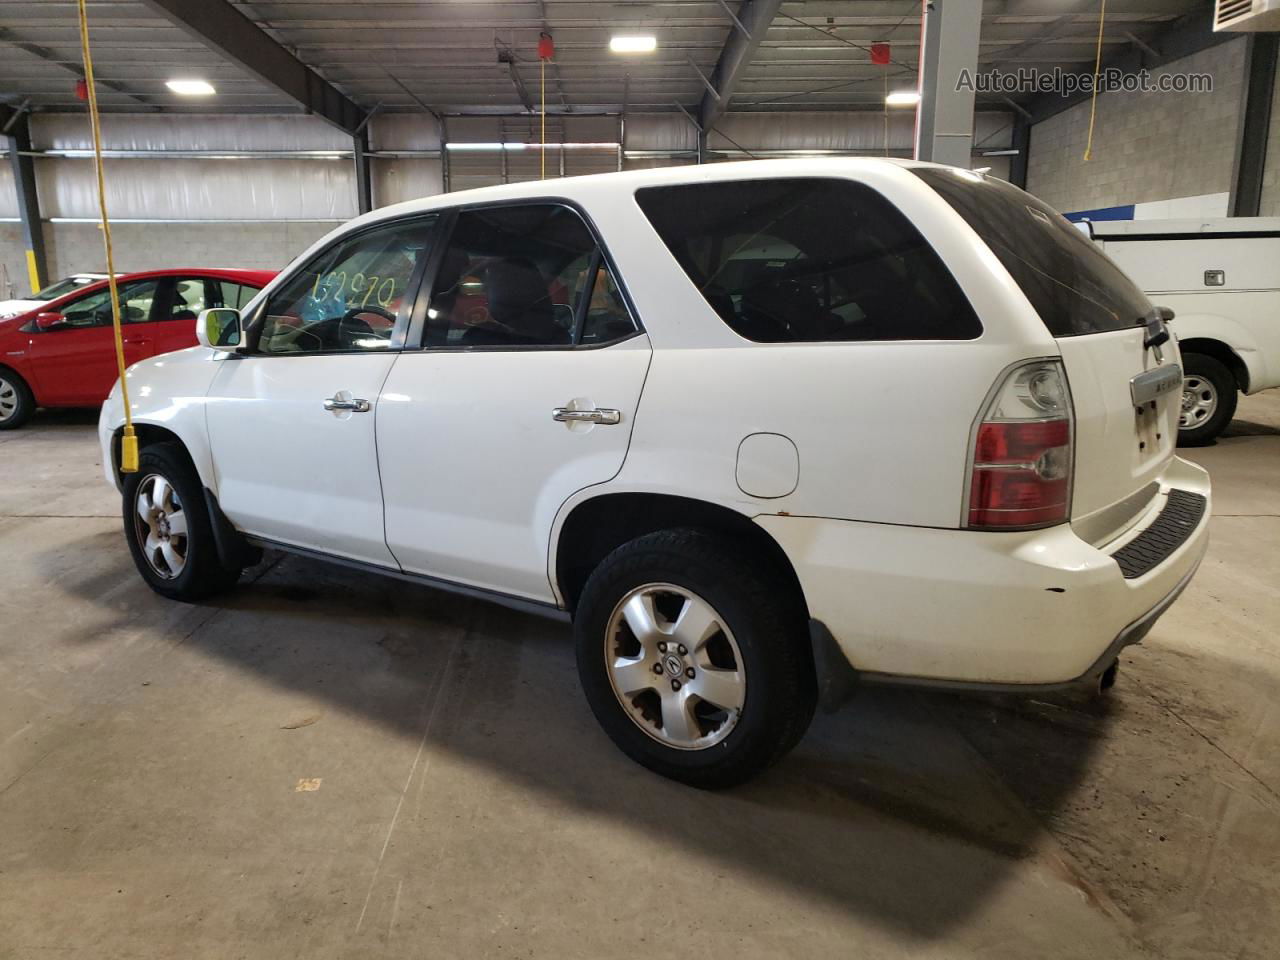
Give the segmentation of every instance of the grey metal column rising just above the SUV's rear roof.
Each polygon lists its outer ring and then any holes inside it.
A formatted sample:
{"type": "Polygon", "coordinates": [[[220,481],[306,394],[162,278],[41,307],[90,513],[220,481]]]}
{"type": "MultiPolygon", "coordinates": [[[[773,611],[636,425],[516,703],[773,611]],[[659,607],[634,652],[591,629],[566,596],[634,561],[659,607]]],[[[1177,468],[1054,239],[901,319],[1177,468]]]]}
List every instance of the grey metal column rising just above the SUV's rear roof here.
{"type": "Polygon", "coordinates": [[[920,106],[915,156],[968,169],[973,156],[973,87],[956,90],[963,70],[978,72],[982,0],[929,0],[920,40],[920,106]]]}

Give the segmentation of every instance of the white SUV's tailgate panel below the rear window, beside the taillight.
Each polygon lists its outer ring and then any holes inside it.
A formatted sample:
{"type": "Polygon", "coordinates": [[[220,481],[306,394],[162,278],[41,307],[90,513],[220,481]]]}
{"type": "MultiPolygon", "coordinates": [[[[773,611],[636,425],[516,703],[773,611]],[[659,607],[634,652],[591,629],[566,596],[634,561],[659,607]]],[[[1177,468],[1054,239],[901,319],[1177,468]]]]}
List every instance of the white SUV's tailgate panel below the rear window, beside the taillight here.
{"type": "MultiPolygon", "coordinates": [[[[1161,362],[1155,348],[1143,347],[1144,335],[1144,328],[1133,326],[1057,338],[1075,407],[1073,526],[1111,508],[1105,527],[1123,530],[1147,507],[1174,458],[1181,398],[1178,347],[1174,340],[1164,344],[1161,362]]],[[[1088,526],[1091,532],[1108,532],[1088,526]]]]}

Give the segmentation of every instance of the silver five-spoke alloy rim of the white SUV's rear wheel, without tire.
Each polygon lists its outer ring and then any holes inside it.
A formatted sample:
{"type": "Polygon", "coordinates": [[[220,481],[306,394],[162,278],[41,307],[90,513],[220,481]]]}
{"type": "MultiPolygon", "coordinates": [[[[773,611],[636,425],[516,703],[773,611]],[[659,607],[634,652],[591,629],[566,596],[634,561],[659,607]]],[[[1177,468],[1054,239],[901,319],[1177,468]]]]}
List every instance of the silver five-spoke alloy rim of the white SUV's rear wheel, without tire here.
{"type": "Polygon", "coordinates": [[[746,703],[742,654],[698,594],[675,584],[631,590],[609,617],[604,657],[618,703],[654,740],[704,750],[737,726],[746,703]]]}

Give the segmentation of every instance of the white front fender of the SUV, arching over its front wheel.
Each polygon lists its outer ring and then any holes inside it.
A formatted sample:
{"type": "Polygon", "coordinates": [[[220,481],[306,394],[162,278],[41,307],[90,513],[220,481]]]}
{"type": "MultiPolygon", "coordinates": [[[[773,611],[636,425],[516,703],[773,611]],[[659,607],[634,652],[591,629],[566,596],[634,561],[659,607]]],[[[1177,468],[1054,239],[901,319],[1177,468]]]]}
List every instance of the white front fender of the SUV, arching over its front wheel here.
{"type": "MultiPolygon", "coordinates": [[[[205,486],[218,492],[214,461],[209,448],[205,403],[219,365],[236,362],[233,355],[204,347],[191,347],[175,353],[143,360],[124,371],[129,388],[133,425],[140,434],[156,428],[173,434],[187,448],[205,486]]],[[[124,402],[116,381],[102,404],[99,417],[99,443],[102,447],[102,470],[106,479],[119,488],[115,436],[124,426],[124,402]]]]}

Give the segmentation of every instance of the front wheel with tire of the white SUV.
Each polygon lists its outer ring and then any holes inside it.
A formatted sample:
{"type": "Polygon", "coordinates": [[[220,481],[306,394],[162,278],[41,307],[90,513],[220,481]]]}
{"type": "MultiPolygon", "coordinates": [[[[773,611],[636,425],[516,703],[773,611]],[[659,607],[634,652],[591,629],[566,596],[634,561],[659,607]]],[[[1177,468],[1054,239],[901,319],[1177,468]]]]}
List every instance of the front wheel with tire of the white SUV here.
{"type": "Polygon", "coordinates": [[[241,575],[224,567],[214,543],[200,475],[177,443],[142,451],[124,475],[124,536],[142,579],[172,600],[202,600],[241,575]]]}

